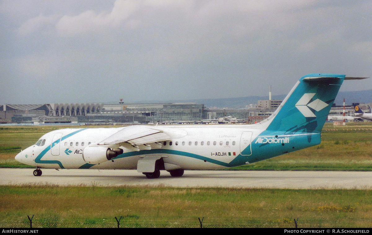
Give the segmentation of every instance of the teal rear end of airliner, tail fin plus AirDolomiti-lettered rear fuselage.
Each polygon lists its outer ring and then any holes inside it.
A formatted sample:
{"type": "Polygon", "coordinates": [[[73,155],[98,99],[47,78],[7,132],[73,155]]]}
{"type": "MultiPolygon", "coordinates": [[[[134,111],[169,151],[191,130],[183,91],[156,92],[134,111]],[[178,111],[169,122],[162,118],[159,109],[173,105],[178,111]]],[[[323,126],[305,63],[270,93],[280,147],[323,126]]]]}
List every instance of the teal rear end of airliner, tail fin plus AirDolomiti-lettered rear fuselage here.
{"type": "Polygon", "coordinates": [[[263,131],[230,165],[258,162],[318,145],[340,86],[351,79],[362,77],[319,73],[301,77],[278,109],[257,125],[263,131]]]}

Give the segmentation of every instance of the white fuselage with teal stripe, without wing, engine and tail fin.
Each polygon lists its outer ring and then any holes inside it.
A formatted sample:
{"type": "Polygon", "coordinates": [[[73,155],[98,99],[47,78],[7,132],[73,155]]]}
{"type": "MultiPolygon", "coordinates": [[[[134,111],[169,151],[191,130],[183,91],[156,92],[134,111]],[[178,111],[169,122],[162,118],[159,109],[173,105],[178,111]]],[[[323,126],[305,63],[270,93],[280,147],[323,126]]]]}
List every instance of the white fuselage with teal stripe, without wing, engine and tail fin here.
{"type": "MultiPolygon", "coordinates": [[[[42,136],[39,144],[19,153],[16,160],[35,167],[53,169],[137,169],[138,160],[154,155],[164,160],[166,169],[221,169],[306,148],[307,143],[299,144],[301,142],[294,140],[307,140],[315,136],[315,133],[260,135],[263,130],[247,126],[250,125],[153,126],[170,133],[172,138],[159,142],[158,148],[150,150],[131,151],[122,148],[121,155],[99,164],[90,164],[84,160],[84,148],[96,146],[97,141],[122,128],[54,130],[42,136]]],[[[318,144],[318,141],[314,144],[318,144]]]]}

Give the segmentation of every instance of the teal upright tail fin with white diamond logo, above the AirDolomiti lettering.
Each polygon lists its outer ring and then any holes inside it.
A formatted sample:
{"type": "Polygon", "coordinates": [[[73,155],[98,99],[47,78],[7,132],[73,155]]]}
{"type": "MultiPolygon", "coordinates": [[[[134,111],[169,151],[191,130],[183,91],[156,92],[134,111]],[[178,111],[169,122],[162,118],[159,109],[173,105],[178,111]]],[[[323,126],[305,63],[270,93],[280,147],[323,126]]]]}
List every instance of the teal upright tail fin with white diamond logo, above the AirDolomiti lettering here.
{"type": "Polygon", "coordinates": [[[267,121],[266,130],[284,133],[320,132],[343,80],[363,79],[339,74],[301,77],[267,121]]]}

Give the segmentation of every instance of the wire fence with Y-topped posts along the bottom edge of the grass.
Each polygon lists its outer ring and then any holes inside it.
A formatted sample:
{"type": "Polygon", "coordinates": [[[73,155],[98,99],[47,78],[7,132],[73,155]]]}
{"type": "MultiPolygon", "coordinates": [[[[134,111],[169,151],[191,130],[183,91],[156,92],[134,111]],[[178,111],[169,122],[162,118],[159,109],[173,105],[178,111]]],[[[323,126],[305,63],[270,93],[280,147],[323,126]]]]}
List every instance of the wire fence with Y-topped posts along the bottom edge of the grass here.
{"type": "Polygon", "coordinates": [[[62,218],[60,216],[2,216],[1,228],[371,228],[371,218],[284,218],[260,219],[234,217],[158,218],[137,215],[62,218]]]}

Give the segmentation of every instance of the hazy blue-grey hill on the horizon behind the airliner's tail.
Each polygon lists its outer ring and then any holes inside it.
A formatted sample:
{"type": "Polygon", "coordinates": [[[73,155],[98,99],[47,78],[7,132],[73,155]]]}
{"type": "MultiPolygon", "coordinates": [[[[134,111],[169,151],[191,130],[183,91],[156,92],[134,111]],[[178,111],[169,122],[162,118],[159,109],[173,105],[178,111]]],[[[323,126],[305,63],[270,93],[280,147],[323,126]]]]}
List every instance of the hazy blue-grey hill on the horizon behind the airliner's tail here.
{"type": "MultiPolygon", "coordinates": [[[[283,100],[286,95],[272,96],[273,100],[283,100]]],[[[345,98],[345,104],[351,105],[352,103],[372,103],[372,90],[362,90],[355,92],[339,92],[334,103],[342,105],[345,98]]],[[[250,104],[256,105],[257,100],[267,100],[269,96],[247,96],[235,98],[220,98],[220,99],[191,99],[191,100],[163,100],[163,101],[140,101],[135,103],[198,103],[204,104],[207,108],[229,108],[240,109],[249,106],[250,104]]]]}

